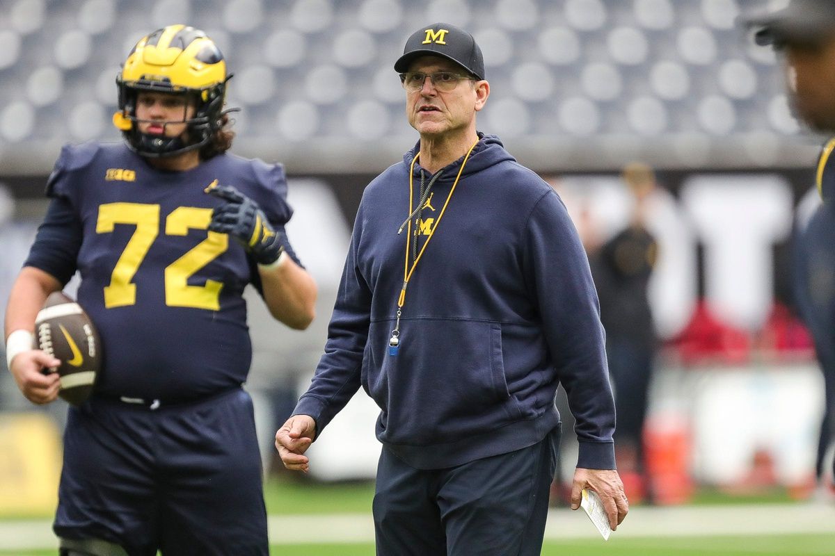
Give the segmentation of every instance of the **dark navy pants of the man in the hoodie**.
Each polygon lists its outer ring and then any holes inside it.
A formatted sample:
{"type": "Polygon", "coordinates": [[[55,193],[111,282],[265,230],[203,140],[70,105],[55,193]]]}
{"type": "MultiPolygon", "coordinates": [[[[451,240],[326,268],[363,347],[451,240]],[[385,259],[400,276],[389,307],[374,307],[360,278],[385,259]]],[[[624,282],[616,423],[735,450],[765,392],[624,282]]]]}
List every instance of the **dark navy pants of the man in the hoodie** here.
{"type": "Polygon", "coordinates": [[[558,449],[559,427],[528,448],[426,470],[384,446],[377,556],[539,556],[558,449]]]}

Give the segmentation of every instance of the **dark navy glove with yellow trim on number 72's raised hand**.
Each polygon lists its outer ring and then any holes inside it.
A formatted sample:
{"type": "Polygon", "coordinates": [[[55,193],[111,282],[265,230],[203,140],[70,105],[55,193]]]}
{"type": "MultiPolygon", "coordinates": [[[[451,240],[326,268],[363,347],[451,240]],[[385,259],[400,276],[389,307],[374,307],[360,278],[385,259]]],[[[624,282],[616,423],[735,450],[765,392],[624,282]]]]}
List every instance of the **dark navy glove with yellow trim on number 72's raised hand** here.
{"type": "Polygon", "coordinates": [[[278,260],[284,250],[281,245],[283,234],[272,228],[258,203],[230,185],[218,185],[216,179],[204,191],[225,201],[211,213],[209,229],[212,232],[228,233],[259,264],[278,260]]]}

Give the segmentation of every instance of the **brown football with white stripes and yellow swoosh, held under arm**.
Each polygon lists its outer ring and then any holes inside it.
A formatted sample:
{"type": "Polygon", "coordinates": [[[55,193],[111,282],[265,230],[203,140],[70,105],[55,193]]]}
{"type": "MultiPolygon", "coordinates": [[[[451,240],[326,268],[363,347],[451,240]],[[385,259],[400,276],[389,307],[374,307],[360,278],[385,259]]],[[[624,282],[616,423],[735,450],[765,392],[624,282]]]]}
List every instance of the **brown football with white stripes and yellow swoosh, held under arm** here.
{"type": "Polygon", "coordinates": [[[35,318],[38,349],[61,360],[61,398],[80,405],[93,393],[101,367],[99,333],[78,303],[63,292],[49,295],[35,318]]]}

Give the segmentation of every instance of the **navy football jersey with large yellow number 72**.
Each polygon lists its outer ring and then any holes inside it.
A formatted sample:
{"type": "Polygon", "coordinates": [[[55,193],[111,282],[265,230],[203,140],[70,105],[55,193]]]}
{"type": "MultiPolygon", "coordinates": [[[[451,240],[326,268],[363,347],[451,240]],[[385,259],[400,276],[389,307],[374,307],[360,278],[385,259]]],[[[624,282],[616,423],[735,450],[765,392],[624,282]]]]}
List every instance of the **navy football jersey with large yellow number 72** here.
{"type": "MultiPolygon", "coordinates": [[[[220,154],[167,172],[122,144],[63,148],[47,192],[71,207],[81,230],[71,270],[103,343],[98,393],[181,400],[245,381],[252,348],[241,294],[257,270],[233,238],[207,230],[222,203],[204,193],[215,179],[283,230],[292,211],[281,165],[220,154]]],[[[28,264],[68,275],[33,255],[28,264]]]]}

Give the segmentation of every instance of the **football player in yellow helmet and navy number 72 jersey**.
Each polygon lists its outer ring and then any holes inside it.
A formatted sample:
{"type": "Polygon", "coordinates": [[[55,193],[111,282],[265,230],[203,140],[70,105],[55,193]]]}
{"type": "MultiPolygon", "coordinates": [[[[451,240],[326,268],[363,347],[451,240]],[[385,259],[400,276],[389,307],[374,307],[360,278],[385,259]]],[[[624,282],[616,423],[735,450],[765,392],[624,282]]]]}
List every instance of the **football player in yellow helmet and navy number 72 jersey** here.
{"type": "Polygon", "coordinates": [[[124,143],[64,147],[48,179],[8,302],[9,368],[33,403],[56,398],[33,323],[77,271],[104,351],[94,394],[68,410],[63,555],[268,553],[241,295],[254,284],[301,329],[316,285],[284,232],[281,165],[226,152],[229,78],[202,31],[150,33],[116,79],[124,143]]]}

